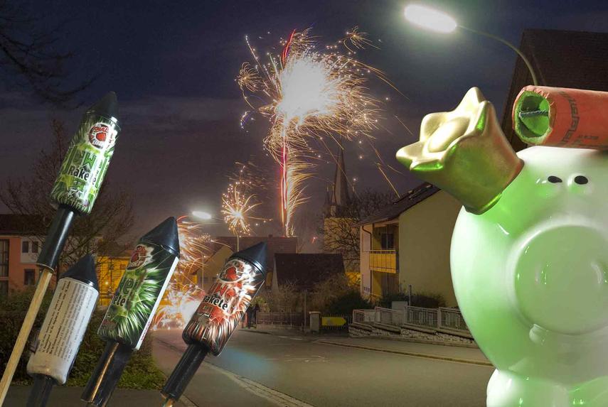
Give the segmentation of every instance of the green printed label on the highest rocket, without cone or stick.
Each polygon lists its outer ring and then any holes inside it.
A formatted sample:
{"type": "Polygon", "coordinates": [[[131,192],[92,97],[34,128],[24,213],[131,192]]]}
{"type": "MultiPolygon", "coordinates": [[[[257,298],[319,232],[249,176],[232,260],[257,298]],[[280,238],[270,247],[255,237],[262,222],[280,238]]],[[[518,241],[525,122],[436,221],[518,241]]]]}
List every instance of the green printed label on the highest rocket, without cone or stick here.
{"type": "Polygon", "coordinates": [[[89,114],[73,137],[50,197],[89,214],[114,154],[118,127],[103,116],[89,114]]]}

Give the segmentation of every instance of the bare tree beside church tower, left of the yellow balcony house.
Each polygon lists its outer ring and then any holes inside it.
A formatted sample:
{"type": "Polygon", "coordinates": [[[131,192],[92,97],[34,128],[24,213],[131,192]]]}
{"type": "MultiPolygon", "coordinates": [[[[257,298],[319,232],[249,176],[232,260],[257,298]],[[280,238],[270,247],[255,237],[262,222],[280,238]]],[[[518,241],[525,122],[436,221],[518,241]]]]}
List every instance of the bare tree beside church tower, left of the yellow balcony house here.
{"type": "Polygon", "coordinates": [[[350,205],[341,208],[339,217],[325,219],[324,228],[319,230],[319,233],[323,234],[324,251],[342,254],[344,268],[358,270],[361,249],[359,228],[355,227],[355,224],[392,204],[394,200],[395,195],[390,191],[359,192],[358,196],[353,197],[350,205]]]}

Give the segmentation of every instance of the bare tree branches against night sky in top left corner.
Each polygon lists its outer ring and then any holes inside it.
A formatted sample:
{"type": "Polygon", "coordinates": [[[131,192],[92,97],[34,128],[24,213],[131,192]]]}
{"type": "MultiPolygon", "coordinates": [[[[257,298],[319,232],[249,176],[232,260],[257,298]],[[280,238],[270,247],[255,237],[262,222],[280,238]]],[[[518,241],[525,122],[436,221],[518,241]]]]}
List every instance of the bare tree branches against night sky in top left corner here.
{"type": "Polygon", "coordinates": [[[18,1],[0,0],[0,72],[5,84],[31,90],[46,102],[65,105],[95,78],[68,87],[65,65],[74,54],[60,50],[65,25],[45,31],[43,16],[34,16],[18,1]]]}

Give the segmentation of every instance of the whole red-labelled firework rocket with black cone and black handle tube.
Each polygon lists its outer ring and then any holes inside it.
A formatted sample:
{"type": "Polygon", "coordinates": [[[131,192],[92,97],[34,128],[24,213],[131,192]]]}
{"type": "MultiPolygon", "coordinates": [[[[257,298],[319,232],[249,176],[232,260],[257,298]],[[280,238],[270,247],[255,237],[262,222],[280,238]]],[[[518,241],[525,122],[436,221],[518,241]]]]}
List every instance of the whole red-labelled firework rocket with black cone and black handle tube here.
{"type": "Polygon", "coordinates": [[[172,406],[180,398],[208,352],[215,356],[222,352],[265,281],[265,265],[264,242],[230,256],[183,330],[188,349],[161,391],[167,398],[165,406],[172,406]]]}

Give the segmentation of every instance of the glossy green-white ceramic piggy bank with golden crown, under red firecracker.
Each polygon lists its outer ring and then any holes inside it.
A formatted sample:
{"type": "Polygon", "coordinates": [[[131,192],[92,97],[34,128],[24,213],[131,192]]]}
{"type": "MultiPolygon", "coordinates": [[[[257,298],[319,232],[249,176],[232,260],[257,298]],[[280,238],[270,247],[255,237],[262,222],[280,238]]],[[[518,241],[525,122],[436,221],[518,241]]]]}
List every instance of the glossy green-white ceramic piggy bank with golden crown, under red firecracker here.
{"type": "Polygon", "coordinates": [[[516,154],[473,88],[397,156],[464,205],[452,281],[496,367],[487,406],[608,406],[608,154],[516,154]]]}

